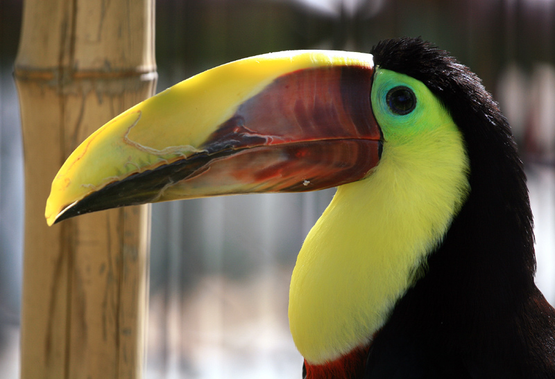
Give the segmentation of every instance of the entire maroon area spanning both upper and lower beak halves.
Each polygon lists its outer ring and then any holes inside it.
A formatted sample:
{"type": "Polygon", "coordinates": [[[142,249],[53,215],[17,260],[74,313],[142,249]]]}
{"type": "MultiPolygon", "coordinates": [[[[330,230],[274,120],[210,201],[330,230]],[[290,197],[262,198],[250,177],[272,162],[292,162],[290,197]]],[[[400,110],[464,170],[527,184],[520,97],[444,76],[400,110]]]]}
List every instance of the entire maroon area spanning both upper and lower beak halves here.
{"type": "MultiPolygon", "coordinates": [[[[325,67],[276,79],[210,136],[210,170],[245,192],[314,191],[363,178],[379,161],[370,105],[373,69],[325,67]]],[[[205,178],[206,177],[206,178],[205,178]]]]}

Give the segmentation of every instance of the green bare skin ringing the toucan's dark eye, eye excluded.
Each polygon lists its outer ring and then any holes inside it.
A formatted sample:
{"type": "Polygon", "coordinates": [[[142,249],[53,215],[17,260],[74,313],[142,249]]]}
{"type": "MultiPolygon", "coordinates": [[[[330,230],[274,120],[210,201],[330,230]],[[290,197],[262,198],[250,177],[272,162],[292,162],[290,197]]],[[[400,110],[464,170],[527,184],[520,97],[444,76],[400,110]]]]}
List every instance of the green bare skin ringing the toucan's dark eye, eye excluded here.
{"type": "Polygon", "coordinates": [[[415,139],[438,132],[438,128],[456,128],[447,110],[419,80],[402,73],[377,69],[373,82],[372,108],[387,143],[415,143],[415,139]],[[416,95],[416,107],[405,115],[395,114],[386,102],[388,91],[404,86],[416,95]]]}

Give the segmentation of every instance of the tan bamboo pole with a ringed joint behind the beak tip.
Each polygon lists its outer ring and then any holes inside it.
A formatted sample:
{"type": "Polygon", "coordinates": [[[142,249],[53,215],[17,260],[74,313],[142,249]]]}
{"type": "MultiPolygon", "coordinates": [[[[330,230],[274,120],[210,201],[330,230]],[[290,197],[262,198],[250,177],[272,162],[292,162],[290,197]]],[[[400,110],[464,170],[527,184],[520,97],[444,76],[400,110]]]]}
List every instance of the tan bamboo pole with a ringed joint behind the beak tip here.
{"type": "Polygon", "coordinates": [[[23,379],[141,378],[148,206],[49,228],[80,141],[155,90],[154,0],[26,0],[15,80],[25,157],[23,379]]]}

